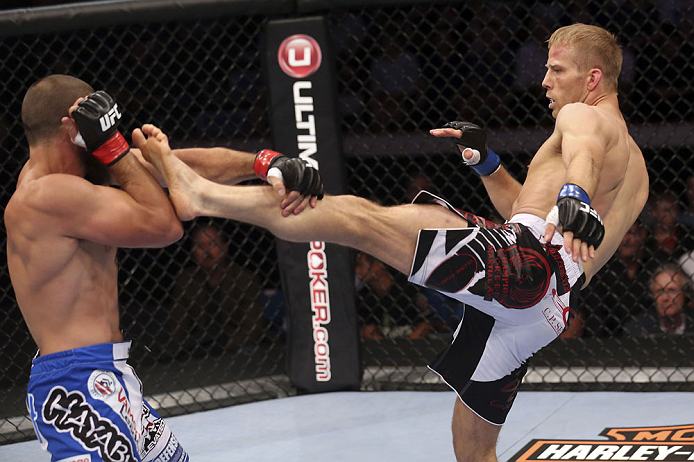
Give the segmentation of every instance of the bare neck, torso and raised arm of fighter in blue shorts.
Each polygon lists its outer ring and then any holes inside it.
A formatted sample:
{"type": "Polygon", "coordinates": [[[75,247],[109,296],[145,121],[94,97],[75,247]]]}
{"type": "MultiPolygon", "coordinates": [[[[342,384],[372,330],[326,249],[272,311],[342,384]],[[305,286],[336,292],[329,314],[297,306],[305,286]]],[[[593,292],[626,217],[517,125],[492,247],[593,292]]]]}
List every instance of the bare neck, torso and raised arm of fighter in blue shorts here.
{"type": "MultiPolygon", "coordinates": [[[[155,138],[165,135],[151,125],[133,133],[140,147],[155,138]]],[[[12,285],[43,355],[121,341],[117,248],[163,247],[183,234],[134,156],[111,168],[119,190],[86,181],[75,149],[67,134],[32,147],[5,209],[12,285]]]]}

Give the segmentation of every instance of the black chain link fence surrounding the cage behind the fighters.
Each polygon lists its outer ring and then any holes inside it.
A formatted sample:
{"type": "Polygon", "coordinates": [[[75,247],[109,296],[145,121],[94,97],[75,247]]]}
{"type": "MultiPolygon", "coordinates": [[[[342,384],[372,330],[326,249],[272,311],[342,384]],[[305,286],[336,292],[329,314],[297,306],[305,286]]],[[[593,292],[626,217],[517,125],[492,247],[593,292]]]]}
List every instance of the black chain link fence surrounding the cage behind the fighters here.
{"type": "MultiPolygon", "coordinates": [[[[174,147],[271,145],[263,29],[286,17],[240,10],[0,37],[0,194],[28,156],[19,120],[28,86],[79,76],[126,108],[130,132],[153,122],[174,147]]],[[[291,10],[289,11],[291,12],[291,10]]],[[[649,167],[651,200],[618,255],[572,301],[570,332],[531,358],[523,389],[694,389],[694,7],[691,2],[465,1],[312,11],[330,24],[350,192],[384,205],[427,189],[498,220],[450,142],[428,130],[464,119],[519,180],[553,119],[540,83],[545,40],[585,22],[624,48],[620,101],[649,167]],[[663,276],[664,275],[664,276],[663,276]],[[681,327],[657,308],[681,309],[681,327]]],[[[296,15],[296,14],[295,14],[296,15]]],[[[54,21],[55,23],[56,21],[54,21]]],[[[55,26],[56,28],[59,26],[55,26]]],[[[3,249],[6,240],[3,236],[3,249]]],[[[165,249],[123,249],[122,327],[132,363],[163,415],[296,393],[285,370],[285,304],[265,231],[199,219],[165,249]]],[[[0,443],[32,437],[24,392],[35,344],[0,271],[0,443]]],[[[357,254],[363,389],[447,389],[426,364],[463,307],[357,254]]]]}

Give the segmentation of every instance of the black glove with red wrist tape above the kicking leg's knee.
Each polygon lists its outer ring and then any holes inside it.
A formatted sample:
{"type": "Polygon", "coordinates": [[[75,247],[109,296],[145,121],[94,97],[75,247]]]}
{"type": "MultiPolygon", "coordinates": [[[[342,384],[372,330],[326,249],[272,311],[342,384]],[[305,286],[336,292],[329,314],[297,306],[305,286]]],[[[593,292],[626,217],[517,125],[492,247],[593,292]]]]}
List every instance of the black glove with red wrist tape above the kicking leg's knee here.
{"type": "Polygon", "coordinates": [[[287,157],[277,151],[263,149],[255,156],[253,170],[263,181],[268,172],[277,169],[274,176],[280,177],[288,191],[299,191],[302,196],[316,196],[323,199],[323,180],[318,169],[303,159],[287,157]]]}

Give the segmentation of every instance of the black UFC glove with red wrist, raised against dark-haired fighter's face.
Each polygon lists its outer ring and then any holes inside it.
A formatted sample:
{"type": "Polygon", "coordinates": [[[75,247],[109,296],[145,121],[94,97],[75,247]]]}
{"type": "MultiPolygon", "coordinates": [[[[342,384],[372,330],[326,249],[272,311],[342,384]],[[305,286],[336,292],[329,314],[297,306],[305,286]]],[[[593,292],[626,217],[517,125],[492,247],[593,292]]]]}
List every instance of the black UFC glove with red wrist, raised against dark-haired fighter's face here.
{"type": "Polygon", "coordinates": [[[122,115],[118,104],[105,91],[97,91],[80,101],[72,112],[87,152],[110,167],[130,152],[130,145],[118,131],[122,115]]]}

